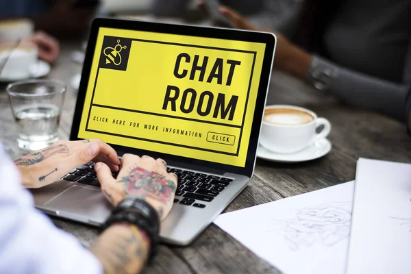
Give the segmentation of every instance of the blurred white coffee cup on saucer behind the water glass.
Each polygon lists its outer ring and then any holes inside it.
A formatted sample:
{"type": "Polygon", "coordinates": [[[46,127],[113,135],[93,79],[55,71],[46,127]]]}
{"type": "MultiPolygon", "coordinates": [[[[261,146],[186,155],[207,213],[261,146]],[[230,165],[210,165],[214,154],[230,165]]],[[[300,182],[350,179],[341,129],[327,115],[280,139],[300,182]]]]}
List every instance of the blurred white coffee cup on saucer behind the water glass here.
{"type": "Polygon", "coordinates": [[[0,43],[0,65],[3,66],[1,78],[27,79],[32,76],[34,66],[38,63],[38,49],[32,42],[0,43]],[[4,64],[5,62],[5,64],[4,64]]]}

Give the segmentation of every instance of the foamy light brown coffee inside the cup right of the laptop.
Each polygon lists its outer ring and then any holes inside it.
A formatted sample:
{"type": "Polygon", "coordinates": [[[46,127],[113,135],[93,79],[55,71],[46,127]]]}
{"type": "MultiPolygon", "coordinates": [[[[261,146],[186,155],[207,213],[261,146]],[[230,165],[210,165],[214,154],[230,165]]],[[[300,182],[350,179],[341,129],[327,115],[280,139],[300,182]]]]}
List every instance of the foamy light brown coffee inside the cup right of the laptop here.
{"type": "Polygon", "coordinates": [[[266,108],[264,122],[273,125],[304,125],[314,121],[314,116],[295,108],[266,108]]]}

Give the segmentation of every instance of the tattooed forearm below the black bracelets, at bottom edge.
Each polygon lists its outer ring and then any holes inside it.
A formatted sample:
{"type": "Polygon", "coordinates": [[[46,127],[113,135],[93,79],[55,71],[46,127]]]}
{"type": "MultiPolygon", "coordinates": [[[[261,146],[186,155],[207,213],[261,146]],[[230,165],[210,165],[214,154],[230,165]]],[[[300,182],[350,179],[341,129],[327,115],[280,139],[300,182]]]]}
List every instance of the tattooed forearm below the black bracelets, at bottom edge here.
{"type": "Polygon", "coordinates": [[[90,251],[100,260],[106,274],[139,273],[144,266],[150,243],[145,232],[134,225],[112,225],[90,251]]]}

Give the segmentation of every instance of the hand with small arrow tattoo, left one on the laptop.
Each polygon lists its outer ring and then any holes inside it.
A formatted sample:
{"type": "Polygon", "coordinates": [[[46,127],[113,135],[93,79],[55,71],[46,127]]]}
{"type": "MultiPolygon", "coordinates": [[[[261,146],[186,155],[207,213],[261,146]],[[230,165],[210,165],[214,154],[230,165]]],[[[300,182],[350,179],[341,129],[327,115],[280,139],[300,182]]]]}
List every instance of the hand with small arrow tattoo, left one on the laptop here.
{"type": "Polygon", "coordinates": [[[50,147],[24,155],[14,164],[21,173],[23,186],[40,188],[90,161],[105,162],[113,172],[119,171],[120,162],[116,151],[99,139],[61,140],[50,147]]]}

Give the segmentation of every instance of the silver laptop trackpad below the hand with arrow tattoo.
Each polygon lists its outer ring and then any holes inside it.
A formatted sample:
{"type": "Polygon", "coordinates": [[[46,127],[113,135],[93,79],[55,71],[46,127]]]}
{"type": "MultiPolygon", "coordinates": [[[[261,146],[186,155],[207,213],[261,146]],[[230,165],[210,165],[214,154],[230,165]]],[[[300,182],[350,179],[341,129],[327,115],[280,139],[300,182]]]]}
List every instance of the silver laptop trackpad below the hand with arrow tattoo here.
{"type": "Polygon", "coordinates": [[[112,210],[101,190],[86,186],[71,186],[43,207],[68,219],[97,224],[103,223],[112,210]]]}

